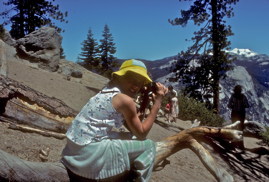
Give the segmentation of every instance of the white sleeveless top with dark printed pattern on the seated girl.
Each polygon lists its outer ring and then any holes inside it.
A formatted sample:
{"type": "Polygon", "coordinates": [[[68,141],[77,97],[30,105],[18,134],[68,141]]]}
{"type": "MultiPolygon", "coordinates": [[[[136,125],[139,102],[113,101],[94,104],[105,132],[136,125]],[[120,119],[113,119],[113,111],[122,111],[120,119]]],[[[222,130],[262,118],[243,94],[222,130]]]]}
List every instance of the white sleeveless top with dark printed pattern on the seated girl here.
{"type": "Polygon", "coordinates": [[[123,114],[112,106],[112,98],[119,93],[117,87],[106,87],[92,97],[72,121],[66,136],[78,145],[109,138],[113,126],[120,128],[125,121],[123,114]]]}

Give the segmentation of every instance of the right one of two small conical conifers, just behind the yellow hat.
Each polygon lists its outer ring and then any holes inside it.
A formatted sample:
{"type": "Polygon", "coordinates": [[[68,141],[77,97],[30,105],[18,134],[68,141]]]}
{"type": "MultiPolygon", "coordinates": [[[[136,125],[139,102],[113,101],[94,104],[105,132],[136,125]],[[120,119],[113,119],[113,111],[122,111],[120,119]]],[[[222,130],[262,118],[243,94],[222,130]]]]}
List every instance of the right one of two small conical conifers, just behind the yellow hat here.
{"type": "Polygon", "coordinates": [[[112,68],[118,67],[118,61],[115,60],[112,54],[116,52],[116,47],[114,47],[115,43],[112,41],[114,40],[112,34],[109,32],[109,27],[106,24],[104,27],[103,37],[104,39],[100,40],[100,61],[101,61],[101,69],[100,74],[104,77],[111,78],[112,75],[112,68]]]}

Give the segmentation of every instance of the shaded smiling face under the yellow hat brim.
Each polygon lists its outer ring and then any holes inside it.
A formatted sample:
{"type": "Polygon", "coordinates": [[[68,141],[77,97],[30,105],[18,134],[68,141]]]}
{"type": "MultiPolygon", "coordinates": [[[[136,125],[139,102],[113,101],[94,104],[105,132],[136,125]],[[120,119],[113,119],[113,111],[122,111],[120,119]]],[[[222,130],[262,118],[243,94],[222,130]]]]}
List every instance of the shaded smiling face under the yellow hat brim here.
{"type": "Polygon", "coordinates": [[[129,71],[119,78],[119,87],[123,91],[123,94],[133,97],[137,92],[140,91],[144,82],[145,78],[143,76],[129,71]]]}

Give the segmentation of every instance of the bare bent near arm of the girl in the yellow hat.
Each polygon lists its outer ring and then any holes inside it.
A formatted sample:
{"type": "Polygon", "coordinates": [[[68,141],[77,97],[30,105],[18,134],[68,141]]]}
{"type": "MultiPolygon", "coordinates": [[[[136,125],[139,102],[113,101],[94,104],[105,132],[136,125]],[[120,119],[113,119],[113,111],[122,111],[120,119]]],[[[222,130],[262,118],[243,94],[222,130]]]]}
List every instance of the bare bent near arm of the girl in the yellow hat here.
{"type": "MultiPolygon", "coordinates": [[[[149,105],[150,99],[145,100],[145,105],[140,109],[141,114],[137,113],[136,106],[133,99],[125,94],[117,94],[112,99],[112,105],[118,112],[122,112],[125,117],[126,123],[133,134],[138,139],[144,139],[149,133],[155,117],[161,107],[163,97],[167,94],[168,89],[161,83],[157,83],[157,93],[152,94],[152,109],[146,120],[141,123],[140,119],[145,114],[145,111],[149,105]],[[139,116],[138,116],[139,115],[139,116]]],[[[144,102],[144,100],[143,100],[144,102]]],[[[143,120],[143,118],[142,118],[143,120]]]]}

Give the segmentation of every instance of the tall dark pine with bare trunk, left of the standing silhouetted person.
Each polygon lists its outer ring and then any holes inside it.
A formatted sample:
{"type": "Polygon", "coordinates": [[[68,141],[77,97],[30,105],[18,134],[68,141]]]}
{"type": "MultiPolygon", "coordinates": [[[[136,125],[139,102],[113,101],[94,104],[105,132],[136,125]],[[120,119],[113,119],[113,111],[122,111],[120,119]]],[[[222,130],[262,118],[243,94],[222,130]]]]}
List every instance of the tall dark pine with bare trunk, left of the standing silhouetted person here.
{"type": "MultiPolygon", "coordinates": [[[[181,0],[180,0],[181,1],[181,0]]],[[[185,0],[192,1],[192,0],[185,0]]],[[[227,59],[231,43],[227,37],[233,35],[230,25],[226,26],[223,18],[234,16],[233,8],[239,0],[196,0],[189,10],[181,10],[182,18],[168,20],[172,25],[186,27],[188,20],[195,25],[204,25],[195,31],[192,37],[194,44],[187,51],[181,51],[173,72],[176,77],[170,81],[182,80],[190,96],[200,101],[211,103],[213,94],[213,109],[219,114],[219,80],[225,78],[225,71],[233,60],[227,59]]]]}

